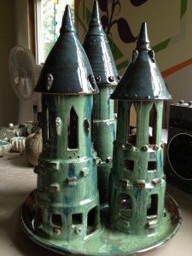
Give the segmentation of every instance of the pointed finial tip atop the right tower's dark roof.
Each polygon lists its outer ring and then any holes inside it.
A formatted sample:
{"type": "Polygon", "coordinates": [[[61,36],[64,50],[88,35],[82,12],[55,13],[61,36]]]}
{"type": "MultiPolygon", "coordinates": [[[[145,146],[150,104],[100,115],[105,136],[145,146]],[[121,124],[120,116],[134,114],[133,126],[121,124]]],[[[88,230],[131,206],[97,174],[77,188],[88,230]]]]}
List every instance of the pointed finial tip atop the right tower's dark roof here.
{"type": "Polygon", "coordinates": [[[146,22],[143,22],[138,35],[136,49],[150,49],[149,43],[150,41],[148,39],[148,26],[146,22]]]}

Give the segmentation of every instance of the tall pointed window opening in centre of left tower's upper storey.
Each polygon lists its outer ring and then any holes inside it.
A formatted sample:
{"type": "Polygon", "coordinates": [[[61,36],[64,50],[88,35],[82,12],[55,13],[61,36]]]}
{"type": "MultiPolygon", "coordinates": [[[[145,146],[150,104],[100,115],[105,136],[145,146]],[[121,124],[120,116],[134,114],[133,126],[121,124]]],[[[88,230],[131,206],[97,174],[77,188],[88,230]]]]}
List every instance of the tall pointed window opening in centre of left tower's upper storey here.
{"type": "Polygon", "coordinates": [[[79,147],[79,118],[74,108],[71,108],[69,125],[68,125],[68,148],[74,149],[79,147]]]}

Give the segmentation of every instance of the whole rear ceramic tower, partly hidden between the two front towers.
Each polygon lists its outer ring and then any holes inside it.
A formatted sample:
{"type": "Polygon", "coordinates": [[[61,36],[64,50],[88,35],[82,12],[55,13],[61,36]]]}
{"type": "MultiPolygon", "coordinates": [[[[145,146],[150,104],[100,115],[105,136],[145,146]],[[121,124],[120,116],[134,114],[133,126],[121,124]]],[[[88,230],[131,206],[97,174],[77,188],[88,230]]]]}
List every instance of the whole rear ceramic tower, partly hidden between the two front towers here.
{"type": "Polygon", "coordinates": [[[93,143],[101,163],[97,166],[98,188],[102,205],[108,204],[108,176],[112,167],[113,141],[116,120],[114,104],[110,100],[119,74],[102,29],[97,1],[94,2],[89,30],[84,39],[84,50],[90,60],[100,93],[93,97],[93,143]]]}

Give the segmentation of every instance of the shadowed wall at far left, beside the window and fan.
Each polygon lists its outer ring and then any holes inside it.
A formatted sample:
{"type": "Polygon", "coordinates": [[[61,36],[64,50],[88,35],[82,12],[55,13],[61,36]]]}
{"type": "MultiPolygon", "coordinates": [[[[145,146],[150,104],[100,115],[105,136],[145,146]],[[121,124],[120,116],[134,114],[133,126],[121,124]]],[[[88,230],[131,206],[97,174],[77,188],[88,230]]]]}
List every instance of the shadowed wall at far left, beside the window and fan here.
{"type": "Polygon", "coordinates": [[[0,1],[0,126],[17,124],[19,101],[9,79],[9,52],[15,44],[28,47],[26,0],[0,1]]]}

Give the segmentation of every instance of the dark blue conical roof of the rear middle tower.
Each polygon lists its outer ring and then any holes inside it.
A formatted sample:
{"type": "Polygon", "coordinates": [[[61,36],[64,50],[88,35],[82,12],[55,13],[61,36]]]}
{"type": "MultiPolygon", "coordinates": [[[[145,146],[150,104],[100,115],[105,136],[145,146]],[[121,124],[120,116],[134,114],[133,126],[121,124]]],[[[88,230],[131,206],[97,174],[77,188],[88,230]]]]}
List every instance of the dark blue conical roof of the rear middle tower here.
{"type": "Polygon", "coordinates": [[[119,73],[108,38],[102,29],[97,1],[93,5],[89,30],[84,39],[84,50],[90,60],[97,85],[116,85],[119,82],[119,73]]]}

